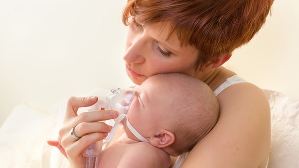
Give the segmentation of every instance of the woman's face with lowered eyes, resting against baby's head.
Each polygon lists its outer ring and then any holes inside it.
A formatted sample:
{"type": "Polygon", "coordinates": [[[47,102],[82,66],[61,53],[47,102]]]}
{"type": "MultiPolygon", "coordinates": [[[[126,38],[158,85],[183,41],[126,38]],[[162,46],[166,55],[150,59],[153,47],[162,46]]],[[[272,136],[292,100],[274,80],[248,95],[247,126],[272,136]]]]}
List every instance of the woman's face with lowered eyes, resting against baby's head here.
{"type": "Polygon", "coordinates": [[[132,17],[126,44],[126,71],[135,84],[161,73],[183,73],[193,76],[198,51],[190,45],[182,46],[174,34],[168,40],[167,24],[143,26],[132,17]]]}

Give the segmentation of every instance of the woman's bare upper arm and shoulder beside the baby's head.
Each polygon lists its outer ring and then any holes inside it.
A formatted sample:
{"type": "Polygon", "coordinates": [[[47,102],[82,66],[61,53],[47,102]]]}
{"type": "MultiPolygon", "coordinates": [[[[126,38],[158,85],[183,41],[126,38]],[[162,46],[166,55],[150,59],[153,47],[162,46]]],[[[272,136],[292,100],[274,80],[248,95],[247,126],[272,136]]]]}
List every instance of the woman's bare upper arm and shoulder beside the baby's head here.
{"type": "Polygon", "coordinates": [[[217,124],[192,149],[181,168],[265,168],[271,119],[264,92],[250,83],[234,84],[217,99],[217,124]]]}

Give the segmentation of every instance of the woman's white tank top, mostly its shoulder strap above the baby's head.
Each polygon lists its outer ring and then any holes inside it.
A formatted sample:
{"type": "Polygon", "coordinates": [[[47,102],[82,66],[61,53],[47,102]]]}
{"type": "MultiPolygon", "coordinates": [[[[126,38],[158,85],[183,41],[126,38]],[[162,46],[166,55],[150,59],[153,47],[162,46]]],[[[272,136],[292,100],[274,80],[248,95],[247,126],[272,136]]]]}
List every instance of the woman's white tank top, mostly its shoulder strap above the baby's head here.
{"type": "MultiPolygon", "coordinates": [[[[215,90],[214,90],[214,94],[217,96],[221,91],[223,91],[224,89],[226,89],[227,87],[233,85],[233,84],[239,84],[239,83],[243,83],[246,82],[245,80],[243,80],[241,77],[234,75],[232,77],[229,77],[228,79],[225,80],[224,83],[220,84],[215,90]]],[[[178,158],[175,161],[175,164],[173,165],[172,168],[179,168],[182,163],[184,162],[184,160],[186,159],[188,155],[187,153],[183,153],[182,155],[178,156],[178,158]]],[[[269,159],[268,159],[269,162],[269,159]]],[[[266,168],[268,168],[268,163],[266,165],[266,168]]]]}

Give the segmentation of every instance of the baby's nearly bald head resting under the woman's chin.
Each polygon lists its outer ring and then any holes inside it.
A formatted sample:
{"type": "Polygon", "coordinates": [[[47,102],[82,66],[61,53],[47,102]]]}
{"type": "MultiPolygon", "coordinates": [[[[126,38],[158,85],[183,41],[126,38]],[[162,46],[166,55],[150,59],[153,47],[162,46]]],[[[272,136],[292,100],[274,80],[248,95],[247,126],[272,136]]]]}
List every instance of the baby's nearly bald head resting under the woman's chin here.
{"type": "Polygon", "coordinates": [[[218,114],[208,85],[183,74],[159,74],[136,91],[128,119],[150,144],[176,156],[190,151],[214,127],[218,114]]]}

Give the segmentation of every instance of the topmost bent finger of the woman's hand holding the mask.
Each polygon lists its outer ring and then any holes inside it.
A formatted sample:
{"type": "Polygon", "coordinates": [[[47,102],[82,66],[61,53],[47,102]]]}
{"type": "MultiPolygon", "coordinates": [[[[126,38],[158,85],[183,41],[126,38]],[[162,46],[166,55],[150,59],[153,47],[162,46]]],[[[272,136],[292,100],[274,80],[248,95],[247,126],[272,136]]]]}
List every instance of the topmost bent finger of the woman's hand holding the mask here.
{"type": "Polygon", "coordinates": [[[77,116],[78,108],[91,106],[95,104],[97,101],[97,96],[70,97],[66,105],[66,114],[64,120],[69,120],[70,118],[77,116]]]}

